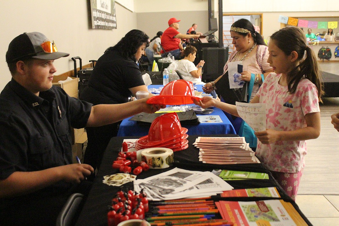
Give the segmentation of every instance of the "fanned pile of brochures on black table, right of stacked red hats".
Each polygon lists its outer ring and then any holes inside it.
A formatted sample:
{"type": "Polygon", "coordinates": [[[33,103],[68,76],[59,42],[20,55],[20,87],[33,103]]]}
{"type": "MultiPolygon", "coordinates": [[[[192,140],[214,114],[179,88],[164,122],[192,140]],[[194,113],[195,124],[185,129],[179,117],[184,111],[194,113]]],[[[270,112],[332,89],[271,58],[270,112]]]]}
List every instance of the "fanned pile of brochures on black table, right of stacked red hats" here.
{"type": "Polygon", "coordinates": [[[193,145],[203,163],[260,163],[244,137],[198,137],[193,145]]]}

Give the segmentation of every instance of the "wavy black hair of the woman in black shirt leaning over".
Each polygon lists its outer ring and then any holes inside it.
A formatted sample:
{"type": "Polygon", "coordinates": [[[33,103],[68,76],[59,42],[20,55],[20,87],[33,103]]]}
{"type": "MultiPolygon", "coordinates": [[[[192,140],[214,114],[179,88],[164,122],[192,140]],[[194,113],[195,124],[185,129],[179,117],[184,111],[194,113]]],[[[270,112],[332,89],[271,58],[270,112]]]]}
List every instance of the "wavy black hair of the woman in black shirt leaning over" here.
{"type": "Polygon", "coordinates": [[[144,43],[146,44],[146,47],[149,46],[148,39],[149,37],[144,32],[133,29],[129,31],[115,46],[108,47],[105,50],[105,53],[117,50],[121,53],[123,58],[129,58],[135,61],[136,59],[134,54],[137,53],[138,48],[144,43]]]}

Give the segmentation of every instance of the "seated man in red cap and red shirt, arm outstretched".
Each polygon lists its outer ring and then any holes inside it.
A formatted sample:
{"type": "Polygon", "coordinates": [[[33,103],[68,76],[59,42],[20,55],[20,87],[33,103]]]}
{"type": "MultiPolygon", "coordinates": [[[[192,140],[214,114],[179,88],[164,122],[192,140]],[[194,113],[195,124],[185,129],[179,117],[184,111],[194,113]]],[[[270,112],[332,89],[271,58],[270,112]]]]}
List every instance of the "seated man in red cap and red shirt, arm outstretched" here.
{"type": "MultiPolygon", "coordinates": [[[[186,35],[178,32],[179,22],[177,18],[171,18],[168,20],[168,28],[164,31],[161,36],[161,45],[166,51],[166,53],[171,53],[174,56],[174,59],[180,60],[181,54],[183,53],[184,48],[182,47],[180,39],[190,39],[190,38],[199,38],[200,34],[197,35],[186,35]]],[[[161,51],[162,57],[165,57],[166,54],[161,51]]]]}

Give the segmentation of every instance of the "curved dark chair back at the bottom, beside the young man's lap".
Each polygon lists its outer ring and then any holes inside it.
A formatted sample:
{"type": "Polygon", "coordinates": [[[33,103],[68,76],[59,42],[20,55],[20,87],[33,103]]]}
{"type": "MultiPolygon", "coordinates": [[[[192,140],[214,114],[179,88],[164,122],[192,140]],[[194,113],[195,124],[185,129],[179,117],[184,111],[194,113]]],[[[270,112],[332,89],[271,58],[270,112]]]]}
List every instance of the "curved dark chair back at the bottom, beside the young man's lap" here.
{"type": "Polygon", "coordinates": [[[84,195],[80,193],[72,194],[60,211],[56,226],[70,226],[74,224],[74,217],[79,213],[80,203],[84,195]]]}

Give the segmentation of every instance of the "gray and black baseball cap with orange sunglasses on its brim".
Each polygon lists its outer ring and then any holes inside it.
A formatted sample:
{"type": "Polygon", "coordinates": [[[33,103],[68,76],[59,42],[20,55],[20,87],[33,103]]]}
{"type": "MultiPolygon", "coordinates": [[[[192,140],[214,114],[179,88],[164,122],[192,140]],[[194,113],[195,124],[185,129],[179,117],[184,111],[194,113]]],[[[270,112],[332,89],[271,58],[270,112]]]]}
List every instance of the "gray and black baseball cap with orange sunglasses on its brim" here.
{"type": "Polygon", "coordinates": [[[12,42],[9,43],[6,61],[7,63],[12,63],[27,58],[55,60],[68,56],[68,53],[58,52],[54,41],[53,43],[50,42],[44,34],[39,32],[25,32],[15,37],[12,42]]]}

